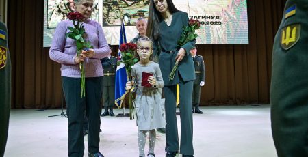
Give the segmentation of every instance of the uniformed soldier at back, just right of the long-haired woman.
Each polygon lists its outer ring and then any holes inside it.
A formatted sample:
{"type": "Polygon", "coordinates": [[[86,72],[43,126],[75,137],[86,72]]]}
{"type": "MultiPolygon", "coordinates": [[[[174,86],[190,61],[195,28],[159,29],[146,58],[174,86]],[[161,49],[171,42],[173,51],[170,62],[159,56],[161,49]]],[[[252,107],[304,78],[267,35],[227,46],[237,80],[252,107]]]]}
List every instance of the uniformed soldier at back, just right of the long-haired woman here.
{"type": "Polygon", "coordinates": [[[196,55],[197,46],[194,46],[190,53],[192,54],[192,60],[194,61],[194,74],[196,79],[194,80],[194,87],[192,88],[192,113],[202,114],[203,112],[199,109],[201,87],[205,81],[205,68],[204,61],[201,55],[196,55]],[[196,106],[196,109],[194,109],[196,106]]]}

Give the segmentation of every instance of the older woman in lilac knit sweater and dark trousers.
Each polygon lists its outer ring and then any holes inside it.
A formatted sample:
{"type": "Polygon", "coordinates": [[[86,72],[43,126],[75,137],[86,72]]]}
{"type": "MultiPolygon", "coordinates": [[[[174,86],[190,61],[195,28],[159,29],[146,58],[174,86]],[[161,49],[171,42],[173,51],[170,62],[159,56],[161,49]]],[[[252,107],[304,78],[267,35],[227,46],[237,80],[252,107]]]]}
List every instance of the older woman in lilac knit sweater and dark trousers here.
{"type": "Polygon", "coordinates": [[[103,29],[99,23],[90,20],[93,10],[92,0],[74,0],[73,8],[80,12],[86,29],[85,40],[93,48],[76,56],[76,43],[66,38],[68,26],[73,22],[63,20],[57,25],[49,51],[53,61],[61,63],[62,87],[68,115],[68,156],[84,156],[83,122],[84,114],[88,117],[88,156],[103,157],[99,152],[99,127],[101,125],[101,81],[103,68],[100,59],[107,57],[110,48],[107,45],[103,29]],[[86,95],[81,98],[79,63],[84,61],[86,95]]]}

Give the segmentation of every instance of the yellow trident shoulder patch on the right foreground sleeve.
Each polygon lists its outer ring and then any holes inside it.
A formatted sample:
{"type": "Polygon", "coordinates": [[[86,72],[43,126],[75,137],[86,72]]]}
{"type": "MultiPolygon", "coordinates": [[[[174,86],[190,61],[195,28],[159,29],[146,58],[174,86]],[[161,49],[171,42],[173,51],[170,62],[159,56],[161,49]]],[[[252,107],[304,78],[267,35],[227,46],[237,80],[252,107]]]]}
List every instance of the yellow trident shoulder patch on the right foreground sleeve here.
{"type": "Polygon", "coordinates": [[[300,38],[300,24],[287,25],[281,29],[280,45],[287,50],[292,48],[300,38]]]}

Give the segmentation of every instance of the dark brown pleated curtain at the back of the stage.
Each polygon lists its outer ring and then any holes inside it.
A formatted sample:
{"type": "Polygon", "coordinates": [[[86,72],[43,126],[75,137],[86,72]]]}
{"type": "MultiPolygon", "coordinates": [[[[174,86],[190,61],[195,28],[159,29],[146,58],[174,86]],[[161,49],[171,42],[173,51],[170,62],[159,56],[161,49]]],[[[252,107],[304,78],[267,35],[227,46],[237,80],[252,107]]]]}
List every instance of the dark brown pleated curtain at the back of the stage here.
{"type": "MultiPolygon", "coordinates": [[[[201,105],[270,102],[272,42],[286,0],[248,0],[249,44],[200,44],[206,66],[201,105]]],[[[43,0],[8,1],[12,109],[58,108],[60,64],[43,48],[43,0]]]]}

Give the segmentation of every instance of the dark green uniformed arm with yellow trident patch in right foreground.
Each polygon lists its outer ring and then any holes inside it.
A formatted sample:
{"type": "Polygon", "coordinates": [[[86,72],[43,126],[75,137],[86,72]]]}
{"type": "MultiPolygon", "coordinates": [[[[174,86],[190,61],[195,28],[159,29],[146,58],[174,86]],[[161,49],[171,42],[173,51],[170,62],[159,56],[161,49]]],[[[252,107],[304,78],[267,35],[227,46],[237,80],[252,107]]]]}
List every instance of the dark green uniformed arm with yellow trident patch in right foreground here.
{"type": "Polygon", "coordinates": [[[278,156],[308,156],[308,1],[288,0],[272,52],[272,135],[278,156]]]}

